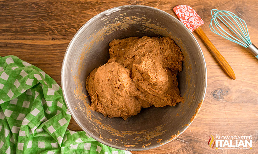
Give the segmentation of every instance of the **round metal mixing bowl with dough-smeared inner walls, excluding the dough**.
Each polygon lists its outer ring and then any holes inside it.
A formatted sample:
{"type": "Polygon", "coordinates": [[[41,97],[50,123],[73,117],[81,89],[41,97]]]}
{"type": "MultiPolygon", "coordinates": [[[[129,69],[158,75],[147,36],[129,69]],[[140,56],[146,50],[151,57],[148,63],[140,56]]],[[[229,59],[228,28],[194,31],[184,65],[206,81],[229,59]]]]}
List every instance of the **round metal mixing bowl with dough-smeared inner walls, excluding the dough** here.
{"type": "Polygon", "coordinates": [[[87,134],[117,149],[145,150],[168,143],[193,122],[205,96],[207,71],[198,42],[178,19],[152,7],[125,5],[94,16],[80,28],[67,47],[61,81],[66,105],[87,134]],[[127,120],[105,118],[88,108],[91,100],[85,88],[86,78],[109,59],[110,41],[131,36],[174,39],[185,57],[178,74],[185,102],[143,108],[127,120]]]}

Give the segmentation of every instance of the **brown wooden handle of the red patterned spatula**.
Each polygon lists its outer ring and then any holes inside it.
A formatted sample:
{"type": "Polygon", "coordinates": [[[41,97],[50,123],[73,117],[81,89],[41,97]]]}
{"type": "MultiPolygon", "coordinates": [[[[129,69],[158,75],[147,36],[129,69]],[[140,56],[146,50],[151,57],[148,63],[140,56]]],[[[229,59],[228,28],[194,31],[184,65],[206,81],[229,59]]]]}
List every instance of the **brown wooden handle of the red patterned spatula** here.
{"type": "Polygon", "coordinates": [[[204,44],[207,46],[207,48],[210,50],[212,56],[215,58],[215,60],[218,62],[219,66],[223,69],[223,71],[230,76],[232,79],[236,79],[235,73],[233,69],[230,67],[226,59],[219,53],[219,51],[215,48],[215,46],[211,43],[211,41],[208,39],[208,37],[205,35],[202,28],[198,27],[196,28],[195,32],[201,40],[204,42],[204,44]]]}

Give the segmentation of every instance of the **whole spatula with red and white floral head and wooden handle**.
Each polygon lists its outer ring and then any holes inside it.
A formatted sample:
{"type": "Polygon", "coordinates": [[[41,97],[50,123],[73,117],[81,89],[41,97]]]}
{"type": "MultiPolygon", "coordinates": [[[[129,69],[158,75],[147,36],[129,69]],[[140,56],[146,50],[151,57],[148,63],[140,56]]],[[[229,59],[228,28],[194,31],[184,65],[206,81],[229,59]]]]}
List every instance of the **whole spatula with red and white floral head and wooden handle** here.
{"type": "Polygon", "coordinates": [[[212,56],[218,62],[222,70],[232,79],[236,79],[233,69],[230,67],[226,59],[219,53],[215,46],[211,43],[208,37],[200,26],[204,24],[201,17],[195,12],[193,8],[188,5],[178,5],[173,8],[179,20],[191,31],[195,30],[196,34],[201,38],[207,48],[210,50],[212,56]]]}

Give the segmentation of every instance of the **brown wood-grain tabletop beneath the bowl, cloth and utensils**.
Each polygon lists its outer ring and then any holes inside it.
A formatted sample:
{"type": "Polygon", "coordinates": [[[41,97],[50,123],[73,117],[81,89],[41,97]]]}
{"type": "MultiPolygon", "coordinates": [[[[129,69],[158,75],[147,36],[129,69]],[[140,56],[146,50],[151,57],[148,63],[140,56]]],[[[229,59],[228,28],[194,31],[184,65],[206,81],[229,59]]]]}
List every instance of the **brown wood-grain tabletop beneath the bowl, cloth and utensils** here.
{"type": "MultiPolygon", "coordinates": [[[[211,9],[229,10],[248,25],[253,44],[258,45],[257,0],[0,0],[0,56],[15,55],[45,71],[61,86],[61,66],[66,47],[90,18],[120,5],[147,5],[175,16],[173,7],[190,5],[204,20],[208,38],[233,68],[230,79],[193,32],[207,64],[208,84],[204,103],[194,122],[170,143],[133,154],[163,153],[258,153],[258,60],[242,46],[209,29],[211,9]],[[211,149],[210,135],[252,135],[252,149],[211,149]]],[[[80,127],[71,119],[69,129],[80,127]]]]}

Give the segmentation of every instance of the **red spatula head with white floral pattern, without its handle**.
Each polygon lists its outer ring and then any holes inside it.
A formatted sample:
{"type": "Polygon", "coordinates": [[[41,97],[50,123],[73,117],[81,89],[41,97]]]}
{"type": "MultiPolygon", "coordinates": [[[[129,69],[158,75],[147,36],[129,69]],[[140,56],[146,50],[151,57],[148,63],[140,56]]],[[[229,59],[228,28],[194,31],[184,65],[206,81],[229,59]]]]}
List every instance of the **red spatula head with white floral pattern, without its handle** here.
{"type": "Polygon", "coordinates": [[[201,17],[195,12],[193,8],[188,5],[178,5],[173,8],[179,20],[193,32],[196,28],[204,24],[201,17]]]}

